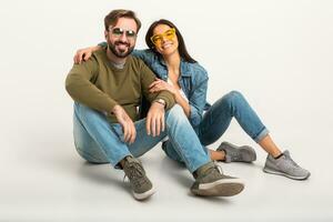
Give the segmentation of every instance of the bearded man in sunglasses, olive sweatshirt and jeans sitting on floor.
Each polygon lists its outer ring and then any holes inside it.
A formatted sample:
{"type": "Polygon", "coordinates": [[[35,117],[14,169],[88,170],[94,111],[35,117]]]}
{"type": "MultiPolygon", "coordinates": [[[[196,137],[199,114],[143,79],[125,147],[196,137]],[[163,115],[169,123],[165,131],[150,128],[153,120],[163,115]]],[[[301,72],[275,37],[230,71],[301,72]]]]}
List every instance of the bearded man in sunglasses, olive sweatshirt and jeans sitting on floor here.
{"type": "Polygon", "coordinates": [[[74,142],[79,154],[94,163],[110,162],[129,178],[133,195],[143,200],[154,193],[142,164],[135,159],[165,135],[183,157],[195,178],[191,191],[198,195],[230,196],[244,185],[223,175],[202,149],[183,110],[173,105],[167,91],[149,93],[152,71],[130,56],[141,22],[133,11],[113,10],[104,19],[108,48],[74,64],[65,88],[74,102],[74,142]],[[142,98],[151,102],[140,120],[142,98]],[[165,112],[167,110],[167,112],[165,112]]]}

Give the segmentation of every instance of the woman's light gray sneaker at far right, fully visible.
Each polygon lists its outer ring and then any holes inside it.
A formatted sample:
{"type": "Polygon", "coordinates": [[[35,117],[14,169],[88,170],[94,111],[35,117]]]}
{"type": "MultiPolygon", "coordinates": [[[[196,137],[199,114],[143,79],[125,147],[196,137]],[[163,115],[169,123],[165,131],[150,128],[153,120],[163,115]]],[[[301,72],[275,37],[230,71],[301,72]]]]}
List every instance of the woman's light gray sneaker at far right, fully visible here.
{"type": "Polygon", "coordinates": [[[301,168],[293,161],[287,150],[284,151],[283,155],[278,160],[269,154],[263,171],[294,180],[305,180],[311,174],[307,170],[301,168]]]}

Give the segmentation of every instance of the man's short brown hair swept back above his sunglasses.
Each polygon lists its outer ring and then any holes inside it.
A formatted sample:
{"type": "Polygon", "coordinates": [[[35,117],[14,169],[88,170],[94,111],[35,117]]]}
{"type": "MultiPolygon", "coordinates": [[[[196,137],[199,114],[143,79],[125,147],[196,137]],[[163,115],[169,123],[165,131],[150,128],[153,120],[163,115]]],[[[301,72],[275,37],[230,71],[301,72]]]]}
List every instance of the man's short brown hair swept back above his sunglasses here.
{"type": "Polygon", "coordinates": [[[130,19],[133,19],[135,21],[135,23],[137,23],[137,27],[138,27],[137,32],[139,32],[139,30],[141,28],[141,21],[138,19],[138,17],[137,17],[137,14],[135,14],[134,11],[124,10],[124,9],[112,10],[104,18],[105,30],[108,30],[110,26],[114,26],[118,22],[118,19],[120,19],[120,18],[130,18],[130,19]]]}

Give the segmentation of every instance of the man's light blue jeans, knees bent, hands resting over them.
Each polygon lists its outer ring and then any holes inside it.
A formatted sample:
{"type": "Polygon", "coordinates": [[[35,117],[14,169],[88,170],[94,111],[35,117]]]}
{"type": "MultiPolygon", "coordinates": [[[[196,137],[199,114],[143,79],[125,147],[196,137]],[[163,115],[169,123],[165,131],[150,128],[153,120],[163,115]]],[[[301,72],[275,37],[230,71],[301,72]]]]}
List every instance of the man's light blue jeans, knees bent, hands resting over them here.
{"type": "Polygon", "coordinates": [[[89,162],[111,163],[114,168],[119,168],[119,162],[123,158],[144,154],[167,135],[174,152],[182,158],[191,173],[210,162],[209,155],[178,104],[165,112],[167,129],[158,137],[147,134],[145,119],[134,122],[137,138],[132,144],[123,142],[122,127],[119,123],[109,123],[102,112],[78,102],[74,103],[73,124],[77,151],[89,162]]]}

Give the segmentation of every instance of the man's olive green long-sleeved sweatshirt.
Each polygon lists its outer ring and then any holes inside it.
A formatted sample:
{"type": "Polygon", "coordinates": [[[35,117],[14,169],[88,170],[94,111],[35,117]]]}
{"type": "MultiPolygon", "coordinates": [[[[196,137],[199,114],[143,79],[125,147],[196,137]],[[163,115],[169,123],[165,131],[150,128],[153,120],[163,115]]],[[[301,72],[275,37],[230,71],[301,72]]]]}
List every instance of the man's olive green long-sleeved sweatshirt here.
{"type": "Polygon", "coordinates": [[[101,49],[88,61],[73,65],[65,79],[65,89],[74,101],[107,113],[110,122],[117,122],[111,113],[115,104],[137,121],[142,97],[150,102],[163,99],[167,109],[174,104],[173,95],[168,91],[149,92],[154,79],[154,73],[141,59],[129,56],[123,69],[118,69],[108,59],[105,49],[101,49]]]}

